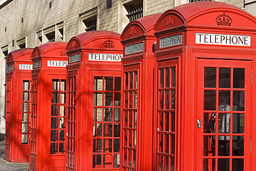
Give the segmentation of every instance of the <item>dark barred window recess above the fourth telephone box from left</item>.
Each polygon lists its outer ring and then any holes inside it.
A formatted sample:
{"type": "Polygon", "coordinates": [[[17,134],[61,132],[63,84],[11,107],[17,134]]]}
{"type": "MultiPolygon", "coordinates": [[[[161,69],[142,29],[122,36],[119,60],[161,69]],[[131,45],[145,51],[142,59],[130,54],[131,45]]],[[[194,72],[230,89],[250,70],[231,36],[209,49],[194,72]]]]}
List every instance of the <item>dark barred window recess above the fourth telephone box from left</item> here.
{"type": "Polygon", "coordinates": [[[128,12],[127,17],[130,22],[143,17],[143,2],[125,5],[125,8],[128,12]]]}

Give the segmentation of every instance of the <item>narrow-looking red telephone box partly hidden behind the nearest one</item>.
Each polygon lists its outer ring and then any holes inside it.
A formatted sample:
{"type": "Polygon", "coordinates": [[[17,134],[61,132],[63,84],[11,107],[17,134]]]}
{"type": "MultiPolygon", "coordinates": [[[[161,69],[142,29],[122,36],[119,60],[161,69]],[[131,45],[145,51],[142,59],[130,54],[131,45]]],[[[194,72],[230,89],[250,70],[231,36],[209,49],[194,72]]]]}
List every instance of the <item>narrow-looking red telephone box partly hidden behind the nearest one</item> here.
{"type": "Polygon", "coordinates": [[[121,35],[124,46],[122,170],[154,170],[154,24],[160,16],[152,14],[132,21],[121,35]]]}

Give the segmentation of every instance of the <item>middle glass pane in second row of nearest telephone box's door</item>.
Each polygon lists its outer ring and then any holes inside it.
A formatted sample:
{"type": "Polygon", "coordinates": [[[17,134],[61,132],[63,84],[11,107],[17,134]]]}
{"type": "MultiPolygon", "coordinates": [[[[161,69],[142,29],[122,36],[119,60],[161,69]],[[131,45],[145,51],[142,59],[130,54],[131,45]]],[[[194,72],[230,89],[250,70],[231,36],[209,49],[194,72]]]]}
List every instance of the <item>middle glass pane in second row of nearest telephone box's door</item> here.
{"type": "Polygon", "coordinates": [[[219,111],[230,111],[230,91],[219,91],[219,111]]]}

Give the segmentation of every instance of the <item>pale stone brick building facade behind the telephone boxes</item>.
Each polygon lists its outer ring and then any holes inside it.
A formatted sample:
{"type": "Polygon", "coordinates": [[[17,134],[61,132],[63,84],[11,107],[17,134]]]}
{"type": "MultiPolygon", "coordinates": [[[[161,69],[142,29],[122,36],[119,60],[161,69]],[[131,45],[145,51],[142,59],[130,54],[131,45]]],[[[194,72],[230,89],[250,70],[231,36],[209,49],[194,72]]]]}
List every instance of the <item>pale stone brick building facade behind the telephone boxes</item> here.
{"type": "MultiPolygon", "coordinates": [[[[191,1],[0,0],[0,133],[5,132],[5,57],[9,52],[35,48],[48,41],[68,41],[90,30],[121,33],[129,21],[191,1]]],[[[221,1],[254,12],[254,1],[221,1]]]]}

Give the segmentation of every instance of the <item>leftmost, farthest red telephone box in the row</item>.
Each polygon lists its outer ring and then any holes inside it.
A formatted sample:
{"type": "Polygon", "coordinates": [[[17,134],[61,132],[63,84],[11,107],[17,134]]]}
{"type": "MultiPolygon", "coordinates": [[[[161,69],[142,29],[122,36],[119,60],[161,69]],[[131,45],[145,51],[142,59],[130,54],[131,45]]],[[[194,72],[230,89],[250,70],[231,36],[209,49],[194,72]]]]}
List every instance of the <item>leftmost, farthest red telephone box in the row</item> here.
{"type": "Polygon", "coordinates": [[[4,160],[28,163],[30,154],[30,82],[33,49],[20,49],[7,56],[6,145],[4,160]]]}

